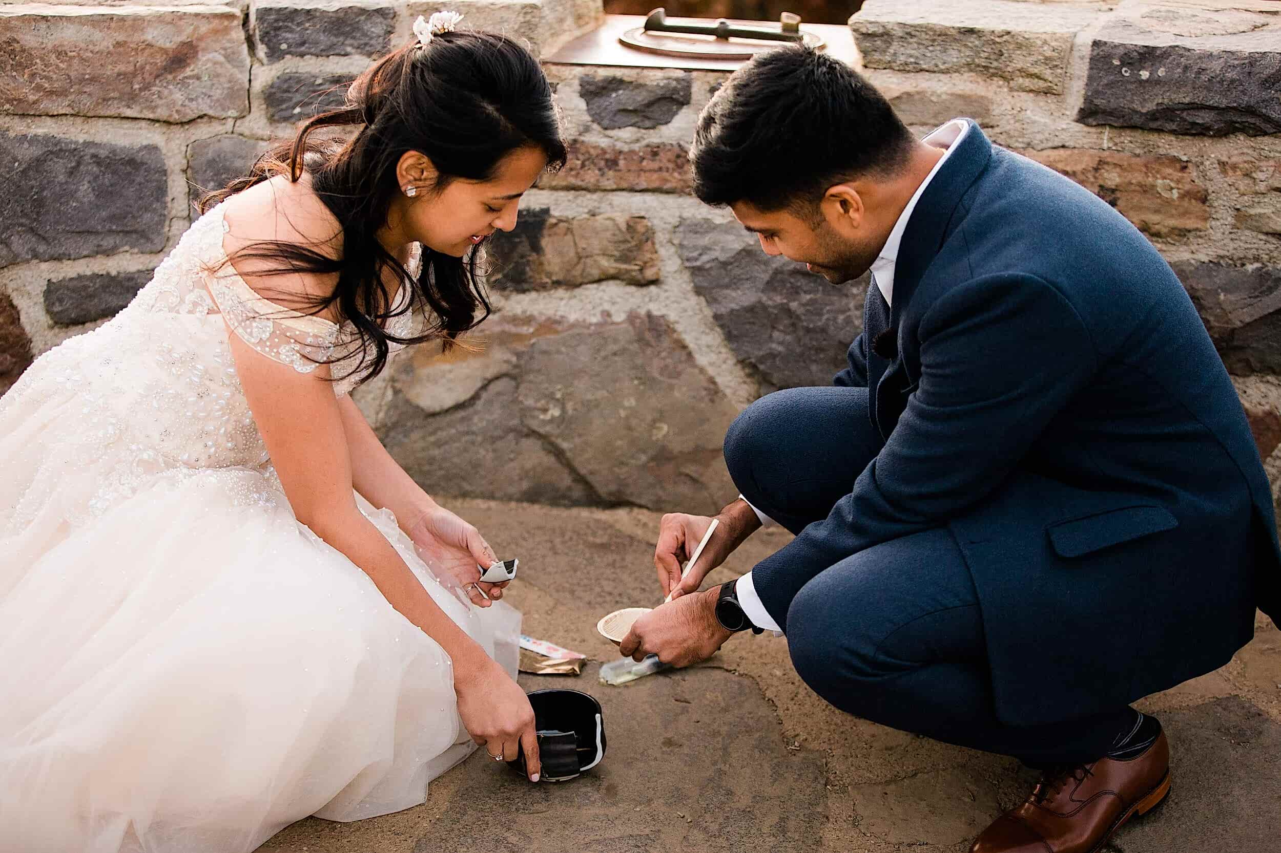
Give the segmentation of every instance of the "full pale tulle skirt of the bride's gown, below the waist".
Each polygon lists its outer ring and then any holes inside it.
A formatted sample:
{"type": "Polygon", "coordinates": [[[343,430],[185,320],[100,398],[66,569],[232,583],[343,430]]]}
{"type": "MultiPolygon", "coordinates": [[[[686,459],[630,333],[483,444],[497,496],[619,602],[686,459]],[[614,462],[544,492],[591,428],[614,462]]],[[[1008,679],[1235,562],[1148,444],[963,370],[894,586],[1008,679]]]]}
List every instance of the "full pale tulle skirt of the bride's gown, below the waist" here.
{"type": "MultiPolygon", "coordinates": [[[[269,471],[146,469],[102,506],[104,460],[59,455],[78,394],[36,379],[0,405],[0,849],[252,850],[421,803],[471,752],[448,656],[269,471]]],[[[465,603],[357,502],[515,676],[520,615],[465,603]]]]}

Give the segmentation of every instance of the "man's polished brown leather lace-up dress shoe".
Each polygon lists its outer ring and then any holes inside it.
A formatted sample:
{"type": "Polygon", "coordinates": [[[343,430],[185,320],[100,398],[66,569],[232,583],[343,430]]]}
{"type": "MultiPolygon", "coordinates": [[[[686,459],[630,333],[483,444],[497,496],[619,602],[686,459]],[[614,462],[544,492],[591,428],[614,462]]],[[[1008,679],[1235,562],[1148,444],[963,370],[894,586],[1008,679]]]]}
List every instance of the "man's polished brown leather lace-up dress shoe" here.
{"type": "Polygon", "coordinates": [[[1162,731],[1127,761],[1099,758],[1047,774],[1022,806],[983,831],[970,853],[1095,853],[1168,793],[1170,744],[1162,731]]]}

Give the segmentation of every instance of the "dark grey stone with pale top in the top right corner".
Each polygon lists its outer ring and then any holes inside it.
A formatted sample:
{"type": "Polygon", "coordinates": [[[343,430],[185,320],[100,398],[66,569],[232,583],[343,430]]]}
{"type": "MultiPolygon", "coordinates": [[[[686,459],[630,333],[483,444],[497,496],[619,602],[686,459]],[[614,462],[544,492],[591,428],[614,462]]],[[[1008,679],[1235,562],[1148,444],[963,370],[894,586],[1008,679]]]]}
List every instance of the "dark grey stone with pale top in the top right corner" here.
{"type": "Polygon", "coordinates": [[[1157,8],[1109,20],[1094,37],[1076,119],[1204,136],[1278,133],[1278,88],[1276,17],[1157,8]]]}

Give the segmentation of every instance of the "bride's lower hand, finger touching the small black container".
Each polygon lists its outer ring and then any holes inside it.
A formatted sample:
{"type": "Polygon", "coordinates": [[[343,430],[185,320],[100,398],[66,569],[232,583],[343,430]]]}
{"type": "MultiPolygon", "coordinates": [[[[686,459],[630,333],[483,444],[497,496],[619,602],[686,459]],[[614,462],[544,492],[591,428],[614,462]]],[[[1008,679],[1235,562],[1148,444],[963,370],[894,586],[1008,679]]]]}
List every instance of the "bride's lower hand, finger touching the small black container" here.
{"type": "Polygon", "coordinates": [[[453,689],[459,697],[459,716],[471,739],[494,761],[500,757],[515,761],[518,749],[524,747],[525,772],[529,781],[538,781],[542,763],[534,710],[525,692],[489,657],[465,672],[455,667],[453,689]]]}

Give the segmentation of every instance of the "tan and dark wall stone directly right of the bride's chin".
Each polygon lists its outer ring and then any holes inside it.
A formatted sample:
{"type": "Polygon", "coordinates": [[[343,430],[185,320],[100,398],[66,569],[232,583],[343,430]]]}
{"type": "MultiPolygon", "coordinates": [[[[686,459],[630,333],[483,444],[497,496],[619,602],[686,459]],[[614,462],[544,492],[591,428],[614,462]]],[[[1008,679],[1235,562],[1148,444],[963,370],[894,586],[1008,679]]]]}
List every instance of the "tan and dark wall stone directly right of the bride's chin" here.
{"type": "Polygon", "coordinates": [[[503,291],[658,280],[658,250],[644,216],[562,218],[535,207],[521,213],[515,231],[493,236],[491,260],[494,284],[503,291]]]}

